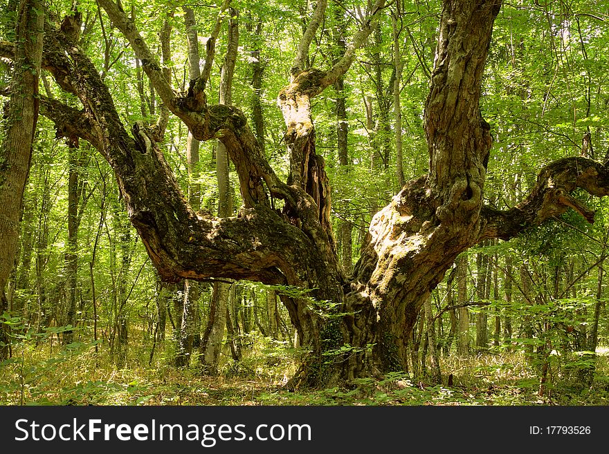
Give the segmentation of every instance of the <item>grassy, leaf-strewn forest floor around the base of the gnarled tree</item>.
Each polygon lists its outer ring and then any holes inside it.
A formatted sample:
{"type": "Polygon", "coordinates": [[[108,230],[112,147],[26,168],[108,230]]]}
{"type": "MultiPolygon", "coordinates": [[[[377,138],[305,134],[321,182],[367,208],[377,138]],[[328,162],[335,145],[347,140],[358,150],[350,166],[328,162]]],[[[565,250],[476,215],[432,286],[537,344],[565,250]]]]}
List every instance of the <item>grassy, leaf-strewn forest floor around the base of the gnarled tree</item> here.
{"type": "MultiPolygon", "coordinates": [[[[285,388],[296,369],[294,354],[246,355],[227,361],[219,377],[196,367],[170,366],[171,352],[149,364],[149,352],[129,356],[120,370],[100,348],[75,343],[73,348],[22,343],[0,366],[3,405],[608,405],[609,348],[599,350],[592,386],[578,383],[574,372],[549,361],[540,395],[535,367],[522,353],[448,356],[442,359],[444,385],[393,373],[382,380],[359,379],[349,388],[296,390],[285,388]],[[44,348],[41,348],[44,347],[44,348]],[[453,385],[446,386],[448,375],[453,385]]],[[[276,350],[275,350],[276,351],[276,350]]],[[[260,352],[258,352],[260,353],[260,352]]],[[[419,374],[425,377],[424,374],[419,374]]]]}

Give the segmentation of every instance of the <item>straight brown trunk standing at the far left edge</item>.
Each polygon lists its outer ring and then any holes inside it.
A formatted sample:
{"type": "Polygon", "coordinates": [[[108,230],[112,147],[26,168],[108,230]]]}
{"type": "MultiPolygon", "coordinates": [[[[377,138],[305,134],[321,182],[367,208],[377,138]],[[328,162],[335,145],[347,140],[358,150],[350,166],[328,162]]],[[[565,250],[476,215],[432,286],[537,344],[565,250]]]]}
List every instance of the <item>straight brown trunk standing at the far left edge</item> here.
{"type": "MultiPolygon", "coordinates": [[[[15,264],[22,199],[30,171],[38,117],[38,77],[42,62],[44,8],[22,0],[17,14],[15,68],[0,148],[0,315],[8,310],[5,287],[15,264]]],[[[0,361],[8,357],[8,332],[0,326],[0,361]]]]}

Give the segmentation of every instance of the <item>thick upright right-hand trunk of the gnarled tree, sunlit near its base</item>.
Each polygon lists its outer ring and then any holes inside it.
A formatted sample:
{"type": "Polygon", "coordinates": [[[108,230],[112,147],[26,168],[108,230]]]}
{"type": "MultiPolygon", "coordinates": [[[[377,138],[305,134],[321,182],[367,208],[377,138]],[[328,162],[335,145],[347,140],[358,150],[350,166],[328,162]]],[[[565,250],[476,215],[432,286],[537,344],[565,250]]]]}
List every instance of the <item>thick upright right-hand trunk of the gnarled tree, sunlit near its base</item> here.
{"type": "Polygon", "coordinates": [[[456,256],[480,240],[491,146],[480,115],[480,81],[499,6],[444,4],[425,111],[430,173],[407,182],[374,216],[356,265],[356,282],[366,284],[354,294],[379,315],[382,334],[374,343],[383,369],[403,368],[408,333],[430,290],[456,256]]]}

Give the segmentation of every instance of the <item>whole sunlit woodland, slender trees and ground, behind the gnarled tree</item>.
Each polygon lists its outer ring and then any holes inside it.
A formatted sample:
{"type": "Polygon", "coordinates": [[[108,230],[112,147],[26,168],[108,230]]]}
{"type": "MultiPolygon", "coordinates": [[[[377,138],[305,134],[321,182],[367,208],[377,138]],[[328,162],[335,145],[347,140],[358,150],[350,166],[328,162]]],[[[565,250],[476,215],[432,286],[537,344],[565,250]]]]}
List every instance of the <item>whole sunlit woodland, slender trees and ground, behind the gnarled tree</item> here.
{"type": "MultiPolygon", "coordinates": [[[[1,6],[3,153],[15,143],[7,131],[20,69],[39,76],[40,113],[33,115],[15,259],[3,263],[10,274],[2,404],[606,404],[605,198],[576,189],[574,210],[462,252],[417,308],[400,367],[305,386],[293,378],[309,346],[282,301],[305,301],[322,319],[345,313],[310,289],[271,279],[161,278],[129,220],[121,178],[94,138],[75,132],[78,124],[66,117],[57,121],[61,108],[81,111],[82,97],[66,91],[47,57],[42,69],[24,69],[17,59],[26,39],[20,30],[41,42],[49,27],[70,36],[125,129],[141,125],[153,135],[192,209],[228,218],[248,205],[238,165],[216,137],[199,142],[170,113],[146,70],[150,62],[117,17],[135,24],[183,99],[201,93],[204,104],[241,109],[262,154],[288,181],[293,157],[278,95],[298,74],[294,62],[300,70],[335,68],[369,28],[344,74],[310,100],[313,154],[331,183],[329,229],[350,275],[373,216],[430,170],[424,111],[441,2],[153,0],[122,3],[113,19],[116,3],[108,0],[1,6]],[[191,83],[197,80],[205,81],[204,93],[191,83]]],[[[561,158],[606,160],[608,21],[606,1],[501,5],[480,88],[493,139],[485,205],[513,207],[536,187],[540,169],[561,158]]],[[[273,210],[289,205],[269,194],[273,210]]],[[[334,365],[372,348],[341,343],[322,359],[334,365]]]]}

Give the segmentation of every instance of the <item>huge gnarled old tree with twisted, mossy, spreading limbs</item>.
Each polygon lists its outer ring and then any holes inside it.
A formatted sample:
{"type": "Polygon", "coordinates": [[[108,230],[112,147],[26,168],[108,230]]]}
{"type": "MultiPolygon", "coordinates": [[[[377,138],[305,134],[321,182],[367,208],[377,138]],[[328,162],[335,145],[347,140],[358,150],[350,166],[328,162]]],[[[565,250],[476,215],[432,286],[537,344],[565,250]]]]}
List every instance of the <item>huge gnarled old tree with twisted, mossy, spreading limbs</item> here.
{"type": "MultiPolygon", "coordinates": [[[[290,84],[280,91],[291,158],[287,182],[269,166],[238,108],[207,105],[203,78],[191,84],[187,96],[174,93],[134,23],[111,0],[98,3],[129,39],[163,103],[194,138],[219,138],[226,146],[244,205],[234,217],[195,213],[147,128],[138,123],[132,135],[125,131],[96,68],[55,30],[47,34],[44,67],[80,98],[86,115],[62,106],[49,116],[64,127],[62,118],[74,115],[72,131],[87,136],[107,158],[131,223],[165,281],[248,279],[309,290],[280,295],[309,350],[293,385],[322,386],[405,369],[406,343],[419,310],[460,252],[489,238],[512,238],[569,208],[591,222],[592,211],[570,193],[581,188],[609,195],[603,163],[565,158],[542,169],[516,207],[499,211],[483,205],[491,135],[480,115],[480,84],[501,2],[446,0],[424,114],[429,173],[406,182],[374,216],[354,275],[347,279],[329,223],[329,185],[315,152],[310,106],[346,73],[383,1],[359,24],[332,68],[304,68],[299,63],[306,59],[297,59],[290,84]],[[83,122],[88,129],[78,128],[83,122]],[[273,209],[269,196],[284,200],[284,209],[273,209]]],[[[10,56],[12,47],[2,44],[0,52],[10,56]]]]}

